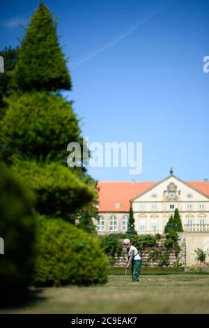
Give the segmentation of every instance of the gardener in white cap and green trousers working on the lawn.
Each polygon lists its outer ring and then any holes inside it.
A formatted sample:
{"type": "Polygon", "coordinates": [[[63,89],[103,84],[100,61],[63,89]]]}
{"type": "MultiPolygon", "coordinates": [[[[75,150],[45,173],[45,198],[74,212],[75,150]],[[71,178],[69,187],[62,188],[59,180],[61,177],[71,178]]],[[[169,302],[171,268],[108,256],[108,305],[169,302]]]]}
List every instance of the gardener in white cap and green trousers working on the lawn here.
{"type": "Polygon", "coordinates": [[[137,251],[137,248],[132,246],[129,239],[124,239],[123,244],[127,251],[127,261],[125,264],[125,268],[128,269],[130,263],[132,264],[132,281],[133,283],[139,281],[139,274],[141,270],[141,256],[137,251]]]}

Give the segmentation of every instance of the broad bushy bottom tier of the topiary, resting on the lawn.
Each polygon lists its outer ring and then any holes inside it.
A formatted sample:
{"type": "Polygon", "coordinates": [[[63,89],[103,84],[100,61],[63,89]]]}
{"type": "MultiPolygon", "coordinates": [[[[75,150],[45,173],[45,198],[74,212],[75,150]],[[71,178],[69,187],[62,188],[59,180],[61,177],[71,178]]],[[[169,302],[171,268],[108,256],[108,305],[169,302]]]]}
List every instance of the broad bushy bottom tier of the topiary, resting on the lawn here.
{"type": "Polygon", "coordinates": [[[35,285],[91,285],[107,281],[107,259],[98,237],[61,218],[38,219],[35,285]]]}

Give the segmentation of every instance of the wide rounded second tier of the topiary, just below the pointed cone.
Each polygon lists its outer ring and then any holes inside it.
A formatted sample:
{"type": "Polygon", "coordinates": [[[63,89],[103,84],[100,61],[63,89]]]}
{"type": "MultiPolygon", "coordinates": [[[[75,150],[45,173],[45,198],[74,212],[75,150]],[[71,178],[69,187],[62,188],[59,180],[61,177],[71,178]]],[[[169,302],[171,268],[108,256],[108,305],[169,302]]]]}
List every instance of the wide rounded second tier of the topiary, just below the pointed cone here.
{"type": "MultiPolygon", "coordinates": [[[[29,92],[8,98],[1,122],[1,142],[26,159],[53,161],[68,143],[80,142],[77,116],[68,101],[56,94],[29,92]]],[[[66,151],[66,161],[68,153],[66,151]]]]}

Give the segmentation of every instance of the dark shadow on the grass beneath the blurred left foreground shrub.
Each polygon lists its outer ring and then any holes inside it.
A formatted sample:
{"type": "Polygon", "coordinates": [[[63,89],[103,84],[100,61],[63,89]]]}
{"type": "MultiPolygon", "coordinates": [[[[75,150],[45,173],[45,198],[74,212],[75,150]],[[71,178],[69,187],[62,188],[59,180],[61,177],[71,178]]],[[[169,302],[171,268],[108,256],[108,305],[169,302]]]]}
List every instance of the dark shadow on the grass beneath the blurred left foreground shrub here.
{"type": "Polygon", "coordinates": [[[26,292],[8,292],[6,295],[0,297],[1,308],[19,308],[23,306],[30,306],[37,301],[45,301],[46,297],[42,297],[42,289],[27,290],[26,292]]]}

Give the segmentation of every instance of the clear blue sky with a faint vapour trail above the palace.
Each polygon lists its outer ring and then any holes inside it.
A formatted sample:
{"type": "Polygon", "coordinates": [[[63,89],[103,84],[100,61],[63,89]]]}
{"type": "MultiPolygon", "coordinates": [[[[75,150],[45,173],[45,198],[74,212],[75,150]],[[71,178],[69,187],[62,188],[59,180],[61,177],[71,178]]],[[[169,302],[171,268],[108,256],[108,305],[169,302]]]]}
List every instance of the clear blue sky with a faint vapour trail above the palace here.
{"type": "MultiPolygon", "coordinates": [[[[1,1],[0,47],[15,46],[39,1],[1,1]]],[[[143,170],[90,168],[102,181],[209,178],[208,0],[47,0],[89,142],[142,142],[143,170]]]]}

